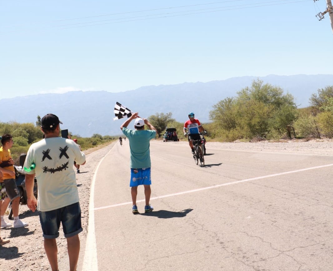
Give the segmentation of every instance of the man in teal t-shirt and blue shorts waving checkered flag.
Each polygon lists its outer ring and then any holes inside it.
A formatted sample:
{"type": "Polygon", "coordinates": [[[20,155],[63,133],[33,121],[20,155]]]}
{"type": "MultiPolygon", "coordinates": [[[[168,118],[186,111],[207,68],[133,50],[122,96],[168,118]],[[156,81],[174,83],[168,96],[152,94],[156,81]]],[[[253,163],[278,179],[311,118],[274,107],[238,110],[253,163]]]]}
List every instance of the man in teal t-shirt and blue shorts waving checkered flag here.
{"type": "Polygon", "coordinates": [[[152,184],[151,179],[151,160],[150,160],[150,140],[156,137],[156,129],[150,124],[147,119],[139,118],[138,112],[134,113],[128,118],[120,129],[123,134],[126,135],[130,142],[130,156],[131,156],[131,195],[132,195],[132,213],[138,213],[137,207],[137,195],[138,186],[143,185],[145,188],[145,213],[154,210],[153,206],[149,204],[150,195],[152,193],[150,185],[152,184]],[[132,120],[135,120],[135,130],[127,128],[132,120]],[[150,130],[145,130],[145,124],[150,130]]]}

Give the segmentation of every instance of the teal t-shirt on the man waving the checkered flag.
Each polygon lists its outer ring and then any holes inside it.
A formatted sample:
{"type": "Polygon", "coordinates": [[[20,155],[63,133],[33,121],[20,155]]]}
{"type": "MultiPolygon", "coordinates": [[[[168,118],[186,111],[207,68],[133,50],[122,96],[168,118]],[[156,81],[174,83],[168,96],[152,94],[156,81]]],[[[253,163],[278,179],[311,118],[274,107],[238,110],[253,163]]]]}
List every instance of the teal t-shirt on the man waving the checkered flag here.
{"type": "Polygon", "coordinates": [[[132,130],[123,128],[123,134],[130,141],[131,168],[149,168],[150,140],[156,137],[155,130],[132,130]]]}

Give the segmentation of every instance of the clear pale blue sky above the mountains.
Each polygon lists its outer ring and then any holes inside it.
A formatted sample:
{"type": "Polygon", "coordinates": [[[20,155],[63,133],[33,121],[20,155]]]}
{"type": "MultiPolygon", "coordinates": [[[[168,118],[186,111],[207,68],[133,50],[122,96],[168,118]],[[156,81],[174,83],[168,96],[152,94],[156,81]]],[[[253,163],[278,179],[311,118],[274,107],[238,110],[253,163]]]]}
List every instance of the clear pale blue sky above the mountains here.
{"type": "Polygon", "coordinates": [[[319,0],[0,1],[1,98],[333,74],[319,0]]]}

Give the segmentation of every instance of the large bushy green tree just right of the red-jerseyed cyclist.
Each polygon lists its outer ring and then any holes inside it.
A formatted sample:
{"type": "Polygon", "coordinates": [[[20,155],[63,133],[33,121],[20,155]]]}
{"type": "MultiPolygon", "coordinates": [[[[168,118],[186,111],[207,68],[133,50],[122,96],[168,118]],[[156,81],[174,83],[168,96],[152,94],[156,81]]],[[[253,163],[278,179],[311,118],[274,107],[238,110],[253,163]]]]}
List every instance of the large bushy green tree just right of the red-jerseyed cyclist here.
{"type": "Polygon", "coordinates": [[[283,94],[280,87],[263,84],[258,79],[237,94],[236,98],[219,101],[209,113],[210,119],[220,127],[220,131],[215,131],[220,138],[282,135],[296,118],[293,96],[283,94]]]}

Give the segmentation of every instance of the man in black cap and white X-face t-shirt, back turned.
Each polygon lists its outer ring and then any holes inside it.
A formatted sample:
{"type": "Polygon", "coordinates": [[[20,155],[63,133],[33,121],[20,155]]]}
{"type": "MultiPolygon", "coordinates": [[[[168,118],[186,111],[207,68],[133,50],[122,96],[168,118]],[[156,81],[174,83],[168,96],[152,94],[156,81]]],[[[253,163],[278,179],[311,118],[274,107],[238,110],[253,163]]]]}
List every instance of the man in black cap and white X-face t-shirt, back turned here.
{"type": "Polygon", "coordinates": [[[84,165],[86,157],[79,146],[71,139],[60,137],[60,123],[54,114],[47,114],[41,120],[41,130],[45,138],[32,144],[28,150],[24,167],[35,168],[26,172],[28,208],[39,211],[39,219],[44,237],[44,249],[52,271],[58,270],[58,248],[56,238],[62,223],[70,271],[75,271],[80,253],[79,233],[81,208],[74,161],[84,165]],[[38,186],[38,201],[34,196],[34,175],[38,186]]]}

